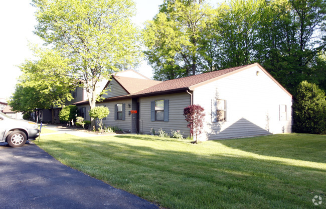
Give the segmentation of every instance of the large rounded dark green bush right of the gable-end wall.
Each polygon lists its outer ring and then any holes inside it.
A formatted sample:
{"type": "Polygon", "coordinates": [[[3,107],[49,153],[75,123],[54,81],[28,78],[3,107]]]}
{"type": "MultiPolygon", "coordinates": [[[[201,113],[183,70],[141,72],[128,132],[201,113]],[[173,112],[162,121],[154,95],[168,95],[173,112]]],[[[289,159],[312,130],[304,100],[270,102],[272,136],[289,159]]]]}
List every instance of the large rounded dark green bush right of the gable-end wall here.
{"type": "Polygon", "coordinates": [[[294,132],[326,133],[325,92],[316,84],[302,81],[292,107],[294,132]]]}

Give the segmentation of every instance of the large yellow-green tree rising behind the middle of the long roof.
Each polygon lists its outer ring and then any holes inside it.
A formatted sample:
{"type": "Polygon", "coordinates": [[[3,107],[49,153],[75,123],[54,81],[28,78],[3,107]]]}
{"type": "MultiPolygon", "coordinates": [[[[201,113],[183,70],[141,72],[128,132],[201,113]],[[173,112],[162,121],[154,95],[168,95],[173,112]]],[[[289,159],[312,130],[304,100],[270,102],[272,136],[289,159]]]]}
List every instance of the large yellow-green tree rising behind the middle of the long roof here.
{"type": "Polygon", "coordinates": [[[201,71],[201,33],[212,11],[203,0],[165,0],[160,5],[159,13],[143,30],[147,47],[144,53],[154,68],[155,79],[174,79],[201,71]]]}

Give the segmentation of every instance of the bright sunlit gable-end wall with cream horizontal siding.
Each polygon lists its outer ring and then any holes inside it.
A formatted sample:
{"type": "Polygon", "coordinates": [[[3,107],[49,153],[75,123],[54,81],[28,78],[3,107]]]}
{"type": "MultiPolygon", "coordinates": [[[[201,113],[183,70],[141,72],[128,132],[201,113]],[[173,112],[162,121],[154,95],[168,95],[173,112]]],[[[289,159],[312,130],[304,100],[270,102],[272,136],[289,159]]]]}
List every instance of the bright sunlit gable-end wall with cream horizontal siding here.
{"type": "Polygon", "coordinates": [[[194,104],[206,110],[201,140],[291,131],[291,97],[258,66],[197,87],[194,104]],[[212,122],[212,99],[226,100],[226,121],[212,122]],[[280,104],[287,120],[280,121],[280,104]]]}

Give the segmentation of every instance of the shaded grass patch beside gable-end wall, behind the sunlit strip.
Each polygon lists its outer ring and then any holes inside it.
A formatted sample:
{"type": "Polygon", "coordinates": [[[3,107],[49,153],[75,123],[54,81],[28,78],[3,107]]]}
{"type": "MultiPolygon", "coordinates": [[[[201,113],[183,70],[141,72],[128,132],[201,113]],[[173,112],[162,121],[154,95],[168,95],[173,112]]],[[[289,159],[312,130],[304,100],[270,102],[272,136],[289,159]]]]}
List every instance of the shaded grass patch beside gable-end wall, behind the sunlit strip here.
{"type": "Polygon", "coordinates": [[[290,133],[214,141],[265,156],[326,163],[326,135],[290,133]]]}

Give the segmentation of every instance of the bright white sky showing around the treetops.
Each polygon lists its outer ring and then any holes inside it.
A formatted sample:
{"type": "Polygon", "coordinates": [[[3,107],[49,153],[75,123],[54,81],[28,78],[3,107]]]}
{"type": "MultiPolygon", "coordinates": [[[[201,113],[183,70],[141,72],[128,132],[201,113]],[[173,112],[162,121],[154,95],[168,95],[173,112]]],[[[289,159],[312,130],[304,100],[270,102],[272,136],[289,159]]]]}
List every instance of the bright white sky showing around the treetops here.
{"type": "MultiPolygon", "coordinates": [[[[137,13],[134,22],[143,28],[146,20],[151,20],[158,12],[163,0],[134,0],[137,13]]],[[[211,0],[215,2],[215,0],[211,0]]],[[[217,0],[216,0],[217,2],[217,0]]],[[[37,24],[31,0],[4,0],[0,7],[1,50],[0,50],[0,99],[9,99],[15,90],[17,79],[21,74],[18,65],[26,59],[33,59],[29,43],[42,43],[33,33],[37,24]]],[[[152,68],[143,60],[136,69],[146,77],[152,77],[152,68]]]]}

